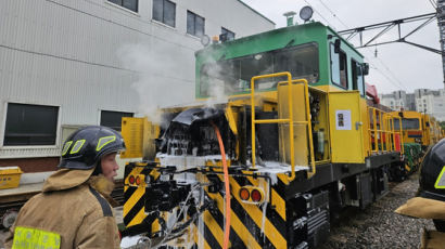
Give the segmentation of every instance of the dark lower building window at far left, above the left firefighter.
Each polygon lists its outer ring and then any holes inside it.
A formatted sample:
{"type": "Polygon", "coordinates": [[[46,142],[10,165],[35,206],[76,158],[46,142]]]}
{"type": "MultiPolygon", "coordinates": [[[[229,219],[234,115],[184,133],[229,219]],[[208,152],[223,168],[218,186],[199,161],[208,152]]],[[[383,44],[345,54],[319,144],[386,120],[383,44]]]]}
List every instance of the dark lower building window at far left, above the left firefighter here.
{"type": "Polygon", "coordinates": [[[58,106],[9,103],[3,145],[55,145],[58,106]]]}

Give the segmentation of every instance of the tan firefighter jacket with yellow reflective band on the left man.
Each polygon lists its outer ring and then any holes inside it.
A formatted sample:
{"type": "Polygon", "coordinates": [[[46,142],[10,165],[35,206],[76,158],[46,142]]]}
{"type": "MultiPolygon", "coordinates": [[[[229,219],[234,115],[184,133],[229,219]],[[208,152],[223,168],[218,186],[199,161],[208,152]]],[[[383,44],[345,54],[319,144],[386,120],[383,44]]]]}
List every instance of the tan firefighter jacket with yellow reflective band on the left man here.
{"type": "Polygon", "coordinates": [[[119,248],[113,183],[91,170],[62,169],[21,209],[7,248],[119,248]]]}

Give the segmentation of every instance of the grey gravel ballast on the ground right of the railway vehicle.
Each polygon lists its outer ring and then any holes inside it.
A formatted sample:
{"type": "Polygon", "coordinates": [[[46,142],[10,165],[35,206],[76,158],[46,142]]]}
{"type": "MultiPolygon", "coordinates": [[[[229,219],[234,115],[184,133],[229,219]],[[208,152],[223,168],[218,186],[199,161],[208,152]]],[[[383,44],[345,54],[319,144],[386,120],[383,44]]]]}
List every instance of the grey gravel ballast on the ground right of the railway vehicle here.
{"type": "Polygon", "coordinates": [[[331,235],[320,248],[419,248],[423,227],[434,230],[432,220],[394,212],[418,187],[418,175],[411,175],[402,183],[391,183],[390,193],[365,210],[348,209],[331,225],[331,235]]]}

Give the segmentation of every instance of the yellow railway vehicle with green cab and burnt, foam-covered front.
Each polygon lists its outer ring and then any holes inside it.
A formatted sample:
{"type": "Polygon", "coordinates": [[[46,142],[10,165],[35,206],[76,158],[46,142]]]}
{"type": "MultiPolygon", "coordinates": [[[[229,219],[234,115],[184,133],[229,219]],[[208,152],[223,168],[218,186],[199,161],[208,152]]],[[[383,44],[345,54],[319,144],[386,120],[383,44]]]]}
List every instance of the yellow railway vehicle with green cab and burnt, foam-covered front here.
{"type": "Polygon", "coordinates": [[[314,248],[342,208],[387,191],[402,130],[368,107],[367,65],[334,30],[308,23],[195,56],[201,102],[162,109],[161,123],[123,119],[122,157],[143,158],[125,168],[124,235],[173,248],[314,248]],[[226,97],[206,101],[215,91],[226,97]]]}

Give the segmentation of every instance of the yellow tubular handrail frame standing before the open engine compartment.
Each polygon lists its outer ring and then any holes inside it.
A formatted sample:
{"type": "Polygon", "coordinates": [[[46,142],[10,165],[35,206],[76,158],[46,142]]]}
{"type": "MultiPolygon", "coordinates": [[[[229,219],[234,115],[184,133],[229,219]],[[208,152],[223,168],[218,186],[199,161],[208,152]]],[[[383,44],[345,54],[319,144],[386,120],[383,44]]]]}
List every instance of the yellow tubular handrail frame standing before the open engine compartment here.
{"type": "Polygon", "coordinates": [[[310,126],[310,108],[309,108],[309,97],[308,97],[308,84],[306,79],[297,79],[297,80],[292,80],[292,76],[289,71],[283,71],[283,73],[276,73],[276,74],[269,74],[269,75],[262,75],[262,76],[254,76],[251,79],[251,112],[252,112],[252,167],[255,168],[255,162],[256,162],[256,141],[255,141],[255,124],[256,123],[289,123],[289,136],[290,139],[290,150],[291,150],[291,175],[288,176],[288,181],[291,182],[295,179],[295,145],[294,145],[294,123],[305,123],[308,126],[309,130],[309,144],[310,144],[310,158],[312,158],[312,169],[313,172],[308,173],[308,178],[312,178],[315,174],[315,160],[314,160],[314,145],[313,145],[313,136],[312,136],[312,126],[310,126]],[[274,78],[274,77],[280,77],[280,76],[285,76],[288,78],[287,81],[280,82],[280,83],[288,83],[289,88],[292,87],[292,83],[294,82],[303,82],[305,84],[305,101],[306,101],[306,117],[308,118],[308,121],[294,121],[293,120],[293,99],[292,99],[292,91],[289,89],[288,91],[288,104],[289,104],[289,118],[282,118],[282,119],[255,119],[255,81],[258,79],[265,79],[265,78],[274,78]]]}

